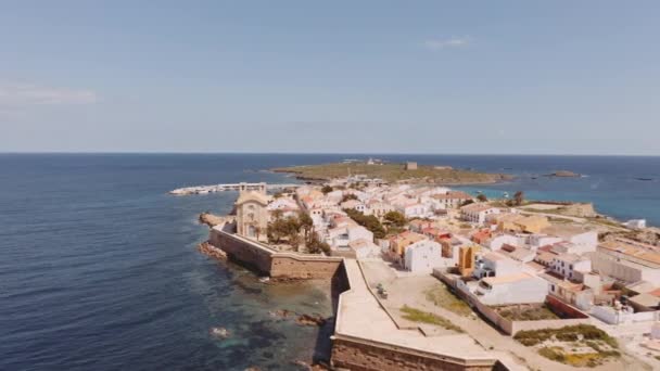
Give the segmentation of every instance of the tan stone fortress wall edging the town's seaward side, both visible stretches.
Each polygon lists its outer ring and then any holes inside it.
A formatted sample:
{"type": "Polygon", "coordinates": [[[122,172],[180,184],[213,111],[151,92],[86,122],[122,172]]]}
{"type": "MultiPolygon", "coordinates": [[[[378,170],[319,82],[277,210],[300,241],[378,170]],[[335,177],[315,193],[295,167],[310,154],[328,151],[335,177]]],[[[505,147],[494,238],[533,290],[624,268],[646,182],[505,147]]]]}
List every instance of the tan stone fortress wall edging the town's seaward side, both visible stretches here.
{"type": "MultiPolygon", "coordinates": [[[[335,317],[341,316],[339,311],[342,293],[351,290],[344,258],[282,253],[266,244],[234,234],[231,225],[213,227],[208,243],[214,246],[213,248],[220,248],[230,259],[275,280],[331,279],[333,310],[335,317]]],[[[499,362],[484,363],[455,357],[447,358],[338,334],[332,337],[331,362],[335,367],[353,371],[507,370],[499,362]]]]}

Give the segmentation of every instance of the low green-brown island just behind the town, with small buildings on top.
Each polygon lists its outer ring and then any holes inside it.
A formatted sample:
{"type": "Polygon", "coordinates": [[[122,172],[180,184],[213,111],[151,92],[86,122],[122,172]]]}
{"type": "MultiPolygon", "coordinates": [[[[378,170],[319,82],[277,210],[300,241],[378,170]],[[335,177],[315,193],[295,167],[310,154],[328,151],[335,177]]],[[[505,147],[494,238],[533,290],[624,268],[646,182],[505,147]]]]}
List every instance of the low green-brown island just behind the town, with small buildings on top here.
{"type": "Polygon", "coordinates": [[[427,184],[487,184],[510,179],[504,174],[487,174],[472,170],[454,169],[449,166],[405,164],[372,164],[371,162],[333,163],[278,167],[275,172],[295,175],[296,179],[323,182],[338,178],[359,178],[365,182],[382,183],[427,183],[427,184]]]}

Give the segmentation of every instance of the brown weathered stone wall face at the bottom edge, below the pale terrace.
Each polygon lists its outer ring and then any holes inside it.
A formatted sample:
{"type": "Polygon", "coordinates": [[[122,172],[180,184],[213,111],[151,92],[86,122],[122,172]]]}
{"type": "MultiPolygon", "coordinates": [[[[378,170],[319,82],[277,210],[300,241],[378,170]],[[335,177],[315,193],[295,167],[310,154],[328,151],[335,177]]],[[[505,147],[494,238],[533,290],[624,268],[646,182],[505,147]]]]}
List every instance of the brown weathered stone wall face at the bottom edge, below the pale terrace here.
{"type": "Polygon", "coordinates": [[[332,342],[332,364],[351,371],[485,371],[495,368],[493,360],[460,361],[341,337],[332,342]]]}

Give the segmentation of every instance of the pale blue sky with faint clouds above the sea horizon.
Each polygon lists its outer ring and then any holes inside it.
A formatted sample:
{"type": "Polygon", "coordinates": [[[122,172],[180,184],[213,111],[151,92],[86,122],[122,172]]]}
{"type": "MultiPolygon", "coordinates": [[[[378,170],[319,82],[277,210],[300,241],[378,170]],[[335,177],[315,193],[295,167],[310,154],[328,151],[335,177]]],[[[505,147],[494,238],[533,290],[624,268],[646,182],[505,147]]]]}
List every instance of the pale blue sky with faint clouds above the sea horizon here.
{"type": "Polygon", "coordinates": [[[659,144],[659,1],[0,2],[0,152],[659,144]]]}

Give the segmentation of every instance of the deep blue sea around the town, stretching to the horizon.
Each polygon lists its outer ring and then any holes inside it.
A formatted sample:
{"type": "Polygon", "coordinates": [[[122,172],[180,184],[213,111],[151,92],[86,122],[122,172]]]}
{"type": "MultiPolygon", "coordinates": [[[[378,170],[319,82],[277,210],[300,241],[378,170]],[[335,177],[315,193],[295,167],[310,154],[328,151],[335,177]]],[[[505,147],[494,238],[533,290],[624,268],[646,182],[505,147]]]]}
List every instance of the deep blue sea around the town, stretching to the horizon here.
{"type": "MultiPolygon", "coordinates": [[[[375,157],[509,172],[510,182],[465,189],[591,201],[660,226],[660,157],[375,157]],[[542,176],[561,169],[584,177],[542,176]]],[[[330,316],[327,287],[263,284],[201,255],[207,229],[198,214],[229,212],[236,193],[167,191],[290,182],[263,170],[344,158],[366,156],[0,154],[0,370],[290,370],[309,361],[323,336],[271,311],[330,316]],[[213,327],[231,337],[214,337],[213,327]]]]}

